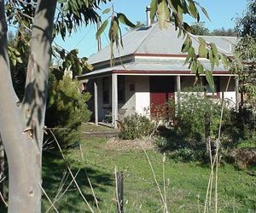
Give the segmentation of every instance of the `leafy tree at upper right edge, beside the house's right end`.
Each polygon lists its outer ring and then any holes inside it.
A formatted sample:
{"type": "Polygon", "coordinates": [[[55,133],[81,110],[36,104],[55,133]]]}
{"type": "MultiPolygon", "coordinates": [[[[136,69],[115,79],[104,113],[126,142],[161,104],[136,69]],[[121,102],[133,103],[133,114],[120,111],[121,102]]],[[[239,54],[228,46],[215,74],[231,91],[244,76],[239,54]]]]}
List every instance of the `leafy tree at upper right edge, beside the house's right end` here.
{"type": "Polygon", "coordinates": [[[236,44],[232,69],[239,78],[239,89],[246,94],[246,101],[256,107],[256,3],[250,1],[246,14],[236,20],[236,31],[241,37],[236,44]]]}

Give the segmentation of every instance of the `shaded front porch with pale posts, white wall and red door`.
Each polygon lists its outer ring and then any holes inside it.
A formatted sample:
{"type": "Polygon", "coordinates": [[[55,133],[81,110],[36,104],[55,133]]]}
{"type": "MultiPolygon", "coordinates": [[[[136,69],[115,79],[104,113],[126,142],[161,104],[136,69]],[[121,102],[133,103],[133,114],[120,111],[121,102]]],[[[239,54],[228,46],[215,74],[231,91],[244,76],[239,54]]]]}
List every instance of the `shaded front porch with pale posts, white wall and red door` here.
{"type": "MultiPolygon", "coordinates": [[[[234,107],[238,107],[238,82],[235,76],[230,74],[213,74],[213,76],[214,93],[207,92],[205,80],[201,82],[206,88],[206,95],[229,99],[234,103],[234,107]],[[228,82],[230,82],[229,87],[227,87],[228,82]]],[[[111,73],[91,80],[94,85],[95,123],[108,122],[117,128],[118,120],[135,112],[148,117],[154,116],[155,107],[165,104],[170,98],[177,105],[177,93],[193,87],[195,75],[111,73]]]]}

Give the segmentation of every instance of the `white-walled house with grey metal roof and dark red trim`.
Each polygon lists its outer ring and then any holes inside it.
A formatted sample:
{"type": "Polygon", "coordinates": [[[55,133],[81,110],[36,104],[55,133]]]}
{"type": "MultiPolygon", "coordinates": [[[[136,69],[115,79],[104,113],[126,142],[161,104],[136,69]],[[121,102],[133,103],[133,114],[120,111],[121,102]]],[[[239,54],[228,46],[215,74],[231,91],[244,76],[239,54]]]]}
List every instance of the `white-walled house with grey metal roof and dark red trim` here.
{"type": "MultiPolygon", "coordinates": [[[[169,98],[177,102],[177,92],[192,87],[195,74],[188,65],[183,65],[186,55],[181,52],[183,37],[170,24],[160,29],[158,23],[140,27],[123,37],[124,49],[114,49],[114,66],[110,66],[110,47],[92,55],[88,62],[94,70],[79,76],[82,82],[93,83],[94,112],[96,124],[111,114],[113,126],[120,117],[134,112],[152,115],[154,107],[164,104],[169,98]]],[[[202,36],[207,42],[215,43],[218,51],[232,54],[236,37],[202,36]]],[[[195,49],[198,43],[194,40],[195,49]]],[[[209,70],[209,60],[200,59],[209,70]]],[[[214,95],[238,103],[238,81],[223,65],[213,70],[214,95]],[[230,78],[230,85],[226,84],[230,78]]]]}

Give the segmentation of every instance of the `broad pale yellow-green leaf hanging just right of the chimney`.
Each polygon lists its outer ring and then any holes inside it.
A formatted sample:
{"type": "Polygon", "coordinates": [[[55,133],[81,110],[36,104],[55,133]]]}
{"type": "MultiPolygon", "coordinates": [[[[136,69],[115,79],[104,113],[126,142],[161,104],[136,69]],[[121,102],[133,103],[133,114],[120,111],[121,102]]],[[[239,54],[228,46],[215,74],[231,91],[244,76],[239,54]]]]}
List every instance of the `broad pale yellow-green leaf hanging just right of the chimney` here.
{"type": "Polygon", "coordinates": [[[167,28],[169,26],[168,21],[170,20],[170,10],[168,9],[168,5],[166,0],[162,0],[158,5],[158,21],[161,29],[167,28]]]}

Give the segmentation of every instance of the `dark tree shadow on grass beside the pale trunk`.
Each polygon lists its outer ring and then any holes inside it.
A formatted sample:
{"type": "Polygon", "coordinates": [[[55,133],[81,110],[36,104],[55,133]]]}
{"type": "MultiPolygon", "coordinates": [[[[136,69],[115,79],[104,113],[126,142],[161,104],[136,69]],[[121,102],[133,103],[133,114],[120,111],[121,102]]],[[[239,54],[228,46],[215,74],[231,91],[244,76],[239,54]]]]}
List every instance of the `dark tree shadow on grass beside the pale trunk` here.
{"type": "MultiPolygon", "coordinates": [[[[88,201],[91,207],[96,207],[95,198],[90,189],[90,183],[87,180],[86,172],[90,177],[90,182],[95,191],[102,191],[107,193],[106,187],[114,185],[114,178],[111,174],[105,173],[102,170],[95,170],[90,167],[79,167],[80,171],[78,176],[76,177],[76,181],[84,194],[85,199],[88,201]]],[[[61,159],[61,156],[57,156],[52,153],[44,153],[43,158],[43,187],[45,192],[48,194],[49,198],[53,200],[55,198],[56,193],[58,192],[59,185],[61,183],[61,179],[67,172],[67,181],[61,193],[66,189],[68,184],[72,181],[72,177],[70,176],[67,170],[67,164],[64,160],[61,159]]],[[[72,170],[73,176],[78,172],[78,169],[72,170]]],[[[61,194],[60,193],[60,194],[61,194]]],[[[101,204],[101,198],[97,197],[97,201],[101,204]]],[[[49,208],[49,202],[45,196],[43,196],[43,204],[42,209],[43,212],[49,208]]],[[[81,195],[79,194],[79,190],[75,186],[74,182],[68,188],[67,193],[60,200],[58,200],[55,204],[55,207],[60,212],[89,212],[88,206],[84,203],[81,195]]],[[[53,209],[52,209],[53,210],[53,209]]],[[[54,211],[49,211],[54,212],[54,211]]]]}

